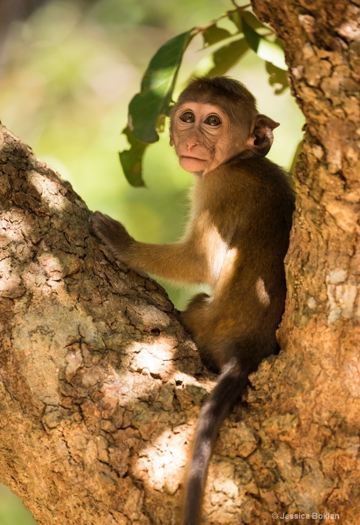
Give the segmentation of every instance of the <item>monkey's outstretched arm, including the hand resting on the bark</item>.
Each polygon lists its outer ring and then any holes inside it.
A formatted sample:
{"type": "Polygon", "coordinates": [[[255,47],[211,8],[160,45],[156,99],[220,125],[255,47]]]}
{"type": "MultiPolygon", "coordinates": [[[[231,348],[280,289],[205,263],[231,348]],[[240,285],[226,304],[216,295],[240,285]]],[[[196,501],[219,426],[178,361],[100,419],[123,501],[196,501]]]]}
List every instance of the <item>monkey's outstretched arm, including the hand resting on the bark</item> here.
{"type": "Polygon", "coordinates": [[[209,282],[205,254],[199,252],[191,235],[174,244],[139,243],[117,220],[95,212],[91,217],[94,234],[130,268],[155,274],[165,279],[187,283],[209,282]]]}

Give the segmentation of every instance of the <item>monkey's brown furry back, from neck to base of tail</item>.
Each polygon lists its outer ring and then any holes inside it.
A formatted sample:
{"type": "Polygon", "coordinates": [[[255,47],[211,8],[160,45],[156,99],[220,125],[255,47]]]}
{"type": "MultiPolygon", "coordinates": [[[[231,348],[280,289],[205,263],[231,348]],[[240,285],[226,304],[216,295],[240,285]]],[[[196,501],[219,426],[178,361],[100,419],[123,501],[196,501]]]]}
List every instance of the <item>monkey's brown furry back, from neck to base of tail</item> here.
{"type": "Polygon", "coordinates": [[[276,351],[285,306],[283,259],[294,209],[289,176],[268,159],[234,159],[203,177],[197,194],[227,246],[207,307],[211,322],[200,327],[202,350],[215,362],[219,355],[219,363],[235,354],[255,369],[276,351]]]}

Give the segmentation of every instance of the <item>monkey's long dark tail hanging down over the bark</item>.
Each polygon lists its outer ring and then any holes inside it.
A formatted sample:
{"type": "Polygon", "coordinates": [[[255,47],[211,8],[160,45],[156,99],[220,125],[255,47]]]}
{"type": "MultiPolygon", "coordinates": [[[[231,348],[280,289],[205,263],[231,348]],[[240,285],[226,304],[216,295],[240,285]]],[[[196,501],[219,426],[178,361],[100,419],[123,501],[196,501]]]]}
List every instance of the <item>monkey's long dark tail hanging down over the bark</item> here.
{"type": "Polygon", "coordinates": [[[200,411],[190,460],[183,525],[198,525],[209,461],[219,428],[233,404],[241,396],[249,371],[241,369],[236,359],[223,368],[214,390],[200,411]]]}

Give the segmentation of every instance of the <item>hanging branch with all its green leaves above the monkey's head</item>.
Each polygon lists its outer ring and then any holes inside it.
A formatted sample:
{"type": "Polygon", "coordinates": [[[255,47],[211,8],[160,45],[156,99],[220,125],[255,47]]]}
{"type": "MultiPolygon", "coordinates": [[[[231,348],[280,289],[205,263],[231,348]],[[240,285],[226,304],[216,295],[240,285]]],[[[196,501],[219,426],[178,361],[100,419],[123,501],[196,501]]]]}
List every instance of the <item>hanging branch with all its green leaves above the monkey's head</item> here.
{"type": "MultiPolygon", "coordinates": [[[[234,3],[234,2],[233,2],[234,3]]],[[[237,6],[209,25],[194,27],[171,38],[155,53],[141,80],[141,90],[129,103],[128,124],[123,130],[130,144],[129,150],[119,153],[124,174],[133,186],[144,186],[142,164],[146,149],[159,140],[165,130],[165,119],[173,103],[182,57],[194,36],[201,34],[203,49],[213,48],[201,67],[201,74],[215,77],[225,75],[247,53],[253,50],[265,61],[269,82],[276,85],[276,93],[287,87],[287,66],[281,40],[270,28],[247,10],[250,5],[237,6]],[[219,27],[222,20],[230,20],[234,30],[219,27]],[[219,44],[221,45],[219,46],[219,44]]],[[[191,78],[199,73],[195,70],[191,78]]]]}

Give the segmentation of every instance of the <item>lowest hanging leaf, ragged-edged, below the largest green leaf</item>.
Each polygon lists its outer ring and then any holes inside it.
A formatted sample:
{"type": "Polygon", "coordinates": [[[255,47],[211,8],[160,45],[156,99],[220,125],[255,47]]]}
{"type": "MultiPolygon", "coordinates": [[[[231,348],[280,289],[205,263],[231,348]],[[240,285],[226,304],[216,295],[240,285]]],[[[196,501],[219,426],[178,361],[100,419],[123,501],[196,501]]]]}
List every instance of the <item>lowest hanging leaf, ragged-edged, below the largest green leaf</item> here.
{"type": "Polygon", "coordinates": [[[130,144],[129,150],[119,152],[125,177],[132,186],[145,186],[141,169],[144,153],[149,144],[137,140],[128,126],[122,132],[130,144]]]}

